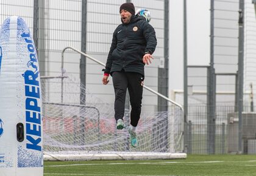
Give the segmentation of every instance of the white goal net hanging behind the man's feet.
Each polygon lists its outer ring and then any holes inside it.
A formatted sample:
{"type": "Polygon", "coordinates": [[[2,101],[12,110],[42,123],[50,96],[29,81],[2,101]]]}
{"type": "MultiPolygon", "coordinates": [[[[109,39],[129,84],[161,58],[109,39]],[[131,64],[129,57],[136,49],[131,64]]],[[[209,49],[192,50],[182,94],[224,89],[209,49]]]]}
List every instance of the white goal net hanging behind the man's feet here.
{"type": "MultiPolygon", "coordinates": [[[[137,127],[138,147],[133,148],[127,129],[116,130],[112,104],[92,95],[68,76],[41,79],[41,86],[44,160],[169,159],[187,156],[182,153],[183,113],[180,107],[171,106],[168,112],[141,113],[137,127]],[[80,92],[86,100],[81,103],[80,92]]],[[[127,125],[129,113],[126,109],[124,122],[127,125]]]]}

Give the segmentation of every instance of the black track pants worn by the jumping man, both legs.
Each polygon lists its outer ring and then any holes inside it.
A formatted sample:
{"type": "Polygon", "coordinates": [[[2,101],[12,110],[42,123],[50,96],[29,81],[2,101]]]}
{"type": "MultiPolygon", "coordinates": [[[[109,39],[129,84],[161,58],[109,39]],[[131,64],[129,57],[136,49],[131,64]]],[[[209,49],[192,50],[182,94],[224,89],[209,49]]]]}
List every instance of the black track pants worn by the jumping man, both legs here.
{"type": "Polygon", "coordinates": [[[115,89],[115,119],[123,119],[124,105],[126,102],[126,90],[128,88],[130,95],[130,105],[132,110],[130,112],[130,124],[137,126],[140,120],[141,100],[143,86],[141,81],[144,80],[140,73],[135,72],[113,72],[113,86],[115,89]]]}

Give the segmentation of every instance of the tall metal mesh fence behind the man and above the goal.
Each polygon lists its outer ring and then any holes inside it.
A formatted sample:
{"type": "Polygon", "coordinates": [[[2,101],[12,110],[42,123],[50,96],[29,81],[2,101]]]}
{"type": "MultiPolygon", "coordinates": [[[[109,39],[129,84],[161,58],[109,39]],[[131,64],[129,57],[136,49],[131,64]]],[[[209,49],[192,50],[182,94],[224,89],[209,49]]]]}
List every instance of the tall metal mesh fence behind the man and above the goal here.
{"type": "MultiPolygon", "coordinates": [[[[67,46],[82,50],[105,63],[113,32],[121,23],[119,6],[124,2],[133,2],[135,10],[147,8],[151,12],[151,25],[155,28],[158,44],[154,61],[145,70],[145,84],[168,96],[168,35],[166,35],[168,21],[164,20],[168,12],[166,5],[168,1],[2,0],[0,19],[4,21],[7,16],[12,15],[23,17],[31,33],[34,33],[41,76],[60,76],[61,52],[67,46]],[[163,68],[159,67],[160,58],[165,58],[163,68]]],[[[101,83],[102,66],[69,51],[65,57],[64,69],[77,80],[80,79],[82,84],[86,84],[91,93],[113,104],[112,81],[104,87],[101,83]]],[[[79,89],[70,93],[74,92],[80,94],[79,89]]],[[[51,97],[45,98],[51,99],[51,97]]],[[[158,103],[157,96],[152,95],[148,90],[144,91],[143,104],[143,111],[158,111],[160,107],[167,110],[167,101],[161,100],[158,103]]]]}

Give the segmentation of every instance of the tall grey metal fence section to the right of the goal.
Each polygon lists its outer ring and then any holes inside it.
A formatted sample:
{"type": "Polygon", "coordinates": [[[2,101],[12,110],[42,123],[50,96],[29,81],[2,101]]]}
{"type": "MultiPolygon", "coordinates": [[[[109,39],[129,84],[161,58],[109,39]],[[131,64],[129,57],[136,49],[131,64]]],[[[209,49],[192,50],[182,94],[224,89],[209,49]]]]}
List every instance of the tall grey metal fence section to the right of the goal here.
{"type": "Polygon", "coordinates": [[[251,154],[256,148],[251,128],[255,9],[251,1],[210,1],[210,64],[187,66],[184,72],[188,153],[251,154]]]}

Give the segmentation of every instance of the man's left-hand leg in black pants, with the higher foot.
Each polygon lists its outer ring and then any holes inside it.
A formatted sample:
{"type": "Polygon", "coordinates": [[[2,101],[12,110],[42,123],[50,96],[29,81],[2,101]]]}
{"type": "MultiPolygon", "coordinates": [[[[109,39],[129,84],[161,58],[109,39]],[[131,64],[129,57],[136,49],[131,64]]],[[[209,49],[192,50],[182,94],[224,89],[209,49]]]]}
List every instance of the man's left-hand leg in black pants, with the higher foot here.
{"type": "Polygon", "coordinates": [[[115,89],[115,120],[116,128],[124,128],[124,105],[126,102],[127,78],[124,72],[112,73],[113,86],[115,89]]]}

